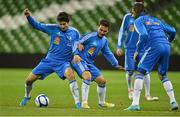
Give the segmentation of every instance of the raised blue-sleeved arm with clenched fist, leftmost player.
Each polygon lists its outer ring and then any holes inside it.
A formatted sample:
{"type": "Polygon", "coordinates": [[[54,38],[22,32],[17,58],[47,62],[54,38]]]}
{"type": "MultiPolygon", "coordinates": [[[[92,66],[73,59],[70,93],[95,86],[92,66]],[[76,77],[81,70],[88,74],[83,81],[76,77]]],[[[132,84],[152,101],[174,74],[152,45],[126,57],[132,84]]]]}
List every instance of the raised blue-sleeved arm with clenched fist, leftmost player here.
{"type": "Polygon", "coordinates": [[[42,24],[38,21],[36,21],[32,16],[31,13],[28,9],[24,10],[24,15],[26,16],[29,24],[31,24],[31,26],[37,30],[43,31],[45,33],[50,33],[50,28],[52,26],[52,24],[42,24]]]}

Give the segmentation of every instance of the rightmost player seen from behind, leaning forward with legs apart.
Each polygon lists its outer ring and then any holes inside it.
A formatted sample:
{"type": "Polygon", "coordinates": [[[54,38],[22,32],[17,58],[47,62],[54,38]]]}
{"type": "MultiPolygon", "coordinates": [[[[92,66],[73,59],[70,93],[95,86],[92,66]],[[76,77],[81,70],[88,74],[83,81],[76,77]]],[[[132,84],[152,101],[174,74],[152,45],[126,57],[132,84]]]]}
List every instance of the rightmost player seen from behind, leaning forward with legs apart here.
{"type": "MultiPolygon", "coordinates": [[[[136,16],[140,15],[142,8],[140,5],[134,6],[136,16]]],[[[145,53],[138,64],[138,73],[135,75],[134,97],[132,104],[125,110],[140,110],[139,100],[145,74],[150,73],[155,64],[158,64],[158,74],[163,87],[169,96],[170,110],[179,108],[173,91],[171,81],[167,77],[168,63],[170,56],[170,42],[175,38],[176,30],[158,18],[145,15],[140,16],[134,22],[135,30],[139,34],[134,59],[138,56],[142,48],[145,53]],[[168,37],[166,35],[168,34],[168,37]]]]}

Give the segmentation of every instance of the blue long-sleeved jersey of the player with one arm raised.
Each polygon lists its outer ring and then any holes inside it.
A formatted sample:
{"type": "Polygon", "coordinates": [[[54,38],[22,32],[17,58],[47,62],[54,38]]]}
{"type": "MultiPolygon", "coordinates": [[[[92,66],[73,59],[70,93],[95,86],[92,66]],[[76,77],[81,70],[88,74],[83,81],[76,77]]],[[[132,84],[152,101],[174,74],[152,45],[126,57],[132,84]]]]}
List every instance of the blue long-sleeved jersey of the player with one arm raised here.
{"type": "Polygon", "coordinates": [[[68,27],[62,31],[58,24],[43,24],[31,16],[27,17],[29,23],[37,30],[47,33],[50,36],[50,47],[46,58],[54,62],[64,63],[72,59],[73,46],[80,35],[77,29],[68,27]]]}

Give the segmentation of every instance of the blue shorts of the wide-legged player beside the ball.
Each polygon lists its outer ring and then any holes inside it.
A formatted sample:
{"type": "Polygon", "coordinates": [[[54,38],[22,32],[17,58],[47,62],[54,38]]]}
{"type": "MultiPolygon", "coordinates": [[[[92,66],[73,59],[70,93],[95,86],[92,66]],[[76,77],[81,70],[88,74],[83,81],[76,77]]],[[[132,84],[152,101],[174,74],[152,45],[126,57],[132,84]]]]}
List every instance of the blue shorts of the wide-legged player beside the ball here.
{"type": "Polygon", "coordinates": [[[49,74],[56,72],[56,74],[61,78],[65,79],[64,72],[70,67],[69,62],[63,64],[57,64],[49,59],[42,59],[41,62],[32,70],[32,73],[35,75],[40,75],[40,80],[43,80],[49,74]]]}

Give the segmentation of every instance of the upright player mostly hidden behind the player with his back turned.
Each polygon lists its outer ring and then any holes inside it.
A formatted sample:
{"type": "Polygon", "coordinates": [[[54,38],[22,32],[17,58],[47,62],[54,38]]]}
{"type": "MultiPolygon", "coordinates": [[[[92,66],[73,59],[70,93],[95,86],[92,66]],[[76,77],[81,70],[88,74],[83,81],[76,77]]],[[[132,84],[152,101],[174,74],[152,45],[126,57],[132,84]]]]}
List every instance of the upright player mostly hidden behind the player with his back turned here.
{"type": "MultiPolygon", "coordinates": [[[[135,2],[134,4],[139,4],[144,9],[143,2],[135,2]]],[[[141,12],[140,15],[144,15],[145,12],[141,12]]],[[[138,41],[138,33],[134,30],[134,15],[133,13],[127,13],[122,21],[121,28],[119,30],[118,36],[118,46],[116,54],[118,56],[123,55],[122,44],[125,40],[125,70],[126,70],[126,81],[128,86],[128,97],[130,100],[133,99],[133,86],[132,86],[132,77],[135,70],[135,61],[133,60],[133,55],[136,50],[136,44],[138,41]]],[[[144,53],[144,49],[140,50],[137,60],[140,60],[144,53]]],[[[144,87],[145,87],[145,99],[147,101],[156,101],[158,97],[152,97],[150,95],[150,75],[147,73],[144,78],[144,87]]]]}

